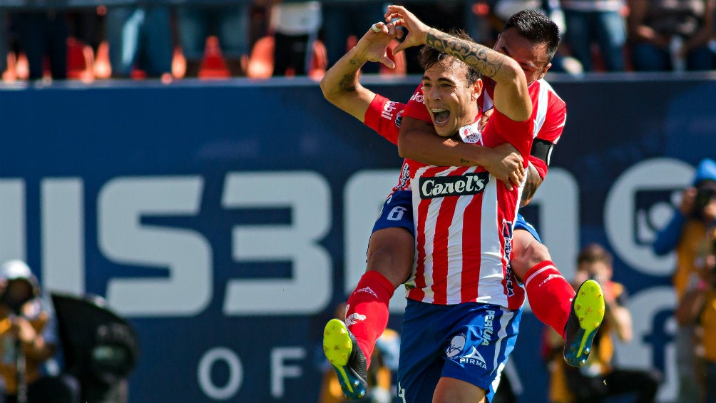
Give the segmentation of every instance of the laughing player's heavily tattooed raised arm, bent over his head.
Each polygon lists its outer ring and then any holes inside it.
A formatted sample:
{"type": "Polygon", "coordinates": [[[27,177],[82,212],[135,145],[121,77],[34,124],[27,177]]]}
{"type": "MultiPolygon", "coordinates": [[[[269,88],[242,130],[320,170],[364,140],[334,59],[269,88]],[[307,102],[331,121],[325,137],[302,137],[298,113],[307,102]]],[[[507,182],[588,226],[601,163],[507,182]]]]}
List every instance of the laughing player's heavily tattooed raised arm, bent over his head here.
{"type": "Polygon", "coordinates": [[[495,108],[511,120],[522,122],[532,115],[532,101],[527,89],[527,80],[522,67],[511,57],[475,42],[453,37],[450,34],[430,28],[402,6],[388,6],[386,21],[395,21],[396,26],[405,26],[407,37],[393,49],[400,52],[407,47],[428,45],[440,52],[462,60],[478,69],[483,76],[498,83],[495,86],[495,108]]]}

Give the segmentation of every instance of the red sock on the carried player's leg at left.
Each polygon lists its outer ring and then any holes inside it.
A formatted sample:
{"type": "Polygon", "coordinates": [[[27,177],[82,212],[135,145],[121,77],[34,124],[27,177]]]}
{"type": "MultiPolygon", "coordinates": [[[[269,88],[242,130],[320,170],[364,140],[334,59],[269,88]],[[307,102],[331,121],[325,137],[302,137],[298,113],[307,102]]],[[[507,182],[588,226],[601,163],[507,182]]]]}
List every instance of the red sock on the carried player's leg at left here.
{"type": "Polygon", "coordinates": [[[388,326],[388,304],[393,291],[393,284],[381,273],[367,271],[348,297],[346,324],[365,354],[366,367],[370,366],[375,341],[388,326]]]}

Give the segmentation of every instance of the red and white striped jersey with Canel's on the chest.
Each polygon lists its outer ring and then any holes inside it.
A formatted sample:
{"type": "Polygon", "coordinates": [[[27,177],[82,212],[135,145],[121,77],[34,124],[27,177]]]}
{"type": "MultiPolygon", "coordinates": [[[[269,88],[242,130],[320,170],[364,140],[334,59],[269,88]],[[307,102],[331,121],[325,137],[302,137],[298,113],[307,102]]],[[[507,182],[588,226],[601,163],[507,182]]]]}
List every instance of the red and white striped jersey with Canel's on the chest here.
{"type": "MultiPolygon", "coordinates": [[[[510,142],[528,155],[532,132],[532,120],[515,122],[495,110],[475,142],[486,147],[510,142]]],[[[522,306],[524,290],[508,270],[521,188],[507,190],[483,167],[410,161],[410,174],[416,256],[408,298],[522,306]]]]}

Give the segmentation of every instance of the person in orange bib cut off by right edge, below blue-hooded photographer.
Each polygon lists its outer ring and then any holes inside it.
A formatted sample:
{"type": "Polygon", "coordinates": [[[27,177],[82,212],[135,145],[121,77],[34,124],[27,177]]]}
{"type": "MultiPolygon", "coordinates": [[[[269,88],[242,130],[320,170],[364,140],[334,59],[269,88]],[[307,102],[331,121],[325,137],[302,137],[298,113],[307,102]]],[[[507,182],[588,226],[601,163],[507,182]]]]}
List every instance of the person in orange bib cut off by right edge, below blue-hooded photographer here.
{"type": "Polygon", "coordinates": [[[705,369],[705,394],[700,401],[712,403],[716,402],[716,228],[706,241],[702,281],[684,293],[675,316],[679,325],[700,326],[705,369]]]}

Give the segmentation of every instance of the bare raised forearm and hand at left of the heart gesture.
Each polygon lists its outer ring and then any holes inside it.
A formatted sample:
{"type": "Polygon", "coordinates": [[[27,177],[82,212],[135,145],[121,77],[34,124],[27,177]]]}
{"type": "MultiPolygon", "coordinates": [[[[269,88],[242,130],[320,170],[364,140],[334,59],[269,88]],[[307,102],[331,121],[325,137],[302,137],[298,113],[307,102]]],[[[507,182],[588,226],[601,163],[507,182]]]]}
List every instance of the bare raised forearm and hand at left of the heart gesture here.
{"type": "MultiPolygon", "coordinates": [[[[399,33],[400,34],[400,33],[399,33]]],[[[324,97],[341,110],[363,122],[375,93],[359,83],[360,68],[366,62],[380,62],[394,68],[387,47],[395,37],[395,26],[378,22],[372,25],[353,49],[328,69],[321,79],[324,97]]]]}

